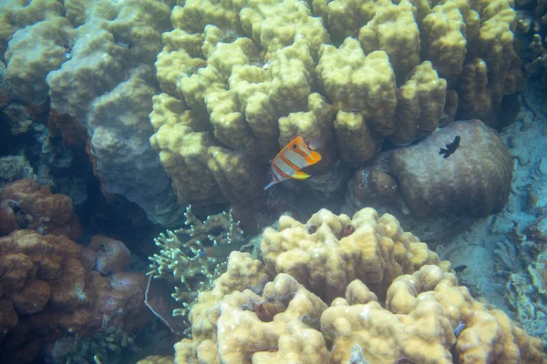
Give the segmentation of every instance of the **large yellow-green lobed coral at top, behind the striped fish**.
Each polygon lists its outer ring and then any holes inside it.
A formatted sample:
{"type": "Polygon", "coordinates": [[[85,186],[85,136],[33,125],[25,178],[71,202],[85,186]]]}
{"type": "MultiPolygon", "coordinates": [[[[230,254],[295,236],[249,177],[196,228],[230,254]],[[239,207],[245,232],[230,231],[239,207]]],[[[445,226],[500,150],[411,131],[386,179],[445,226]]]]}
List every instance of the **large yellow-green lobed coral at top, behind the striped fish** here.
{"type": "Polygon", "coordinates": [[[151,142],[183,204],[260,204],[263,167],[296,135],[322,142],[317,176],[428,136],[458,99],[495,124],[520,72],[504,0],[191,0],[171,23],[151,142]]]}

